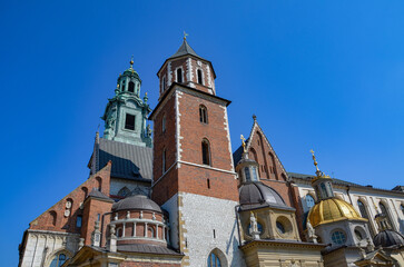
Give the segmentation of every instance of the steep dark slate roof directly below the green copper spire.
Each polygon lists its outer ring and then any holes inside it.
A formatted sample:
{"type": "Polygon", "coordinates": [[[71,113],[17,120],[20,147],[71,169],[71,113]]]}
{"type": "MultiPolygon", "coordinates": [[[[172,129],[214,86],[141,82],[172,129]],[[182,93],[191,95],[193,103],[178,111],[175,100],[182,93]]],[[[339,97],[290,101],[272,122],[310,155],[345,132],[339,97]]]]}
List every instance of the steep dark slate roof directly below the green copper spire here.
{"type": "Polygon", "coordinates": [[[99,139],[99,168],[112,161],[111,177],[151,181],[152,148],[99,139]]]}

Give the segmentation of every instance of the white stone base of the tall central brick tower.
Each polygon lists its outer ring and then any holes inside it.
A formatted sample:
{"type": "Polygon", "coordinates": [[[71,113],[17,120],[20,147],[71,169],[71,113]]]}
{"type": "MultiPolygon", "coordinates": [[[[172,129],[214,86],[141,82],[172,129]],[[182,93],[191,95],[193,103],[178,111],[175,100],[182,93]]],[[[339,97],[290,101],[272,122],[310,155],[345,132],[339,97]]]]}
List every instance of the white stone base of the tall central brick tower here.
{"type": "Polygon", "coordinates": [[[184,259],[185,265],[207,266],[208,256],[215,250],[223,267],[246,266],[238,249],[236,205],[236,201],[187,192],[179,192],[162,205],[170,214],[173,246],[181,240],[185,255],[189,256],[189,261],[184,259]],[[178,237],[180,233],[183,238],[178,237]]]}

